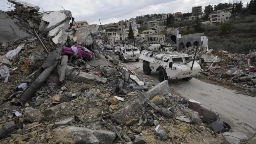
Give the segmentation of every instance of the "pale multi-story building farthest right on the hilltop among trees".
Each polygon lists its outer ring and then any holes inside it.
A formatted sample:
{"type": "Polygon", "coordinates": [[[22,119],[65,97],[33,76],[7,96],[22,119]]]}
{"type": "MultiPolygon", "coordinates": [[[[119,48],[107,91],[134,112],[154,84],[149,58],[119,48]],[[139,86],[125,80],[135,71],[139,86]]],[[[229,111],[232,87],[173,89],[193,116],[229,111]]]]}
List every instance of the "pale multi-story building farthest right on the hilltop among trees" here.
{"type": "Polygon", "coordinates": [[[230,12],[221,12],[216,14],[210,14],[210,25],[215,23],[223,23],[224,21],[228,21],[230,19],[230,12]]]}

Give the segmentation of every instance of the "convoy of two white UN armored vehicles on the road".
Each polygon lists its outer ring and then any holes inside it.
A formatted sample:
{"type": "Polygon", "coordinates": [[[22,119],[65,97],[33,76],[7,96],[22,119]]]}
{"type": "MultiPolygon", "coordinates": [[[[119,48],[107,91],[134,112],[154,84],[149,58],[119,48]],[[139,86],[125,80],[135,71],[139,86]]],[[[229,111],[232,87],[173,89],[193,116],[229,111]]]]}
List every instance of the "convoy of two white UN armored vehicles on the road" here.
{"type": "Polygon", "coordinates": [[[119,60],[143,60],[143,72],[149,75],[151,71],[158,72],[159,81],[183,79],[189,81],[201,67],[194,56],[173,51],[172,47],[163,48],[160,44],[151,44],[146,50],[139,50],[132,45],[121,44],[114,49],[119,60]]]}

